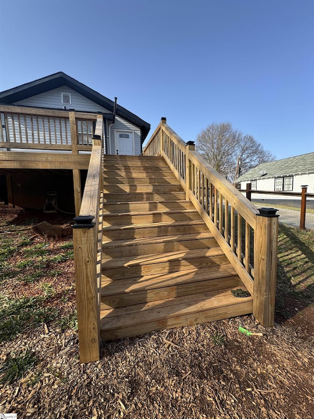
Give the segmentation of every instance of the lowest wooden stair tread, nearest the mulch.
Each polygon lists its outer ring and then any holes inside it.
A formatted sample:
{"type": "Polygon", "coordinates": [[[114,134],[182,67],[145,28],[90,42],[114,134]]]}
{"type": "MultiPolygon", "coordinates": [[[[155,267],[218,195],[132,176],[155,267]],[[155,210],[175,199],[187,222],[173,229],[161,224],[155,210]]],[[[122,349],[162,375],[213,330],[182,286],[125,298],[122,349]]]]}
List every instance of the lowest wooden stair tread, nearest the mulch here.
{"type": "MultiPolygon", "coordinates": [[[[245,287],[243,286],[242,289],[245,289],[245,287]]],[[[242,304],[251,308],[253,298],[251,296],[236,298],[230,290],[223,289],[129,307],[111,308],[101,311],[100,329],[101,331],[117,330],[150,322],[169,327],[167,320],[170,318],[176,320],[179,316],[194,315],[195,313],[221,307],[227,310],[229,307],[242,304]],[[163,320],[165,322],[162,322],[163,320]]]]}

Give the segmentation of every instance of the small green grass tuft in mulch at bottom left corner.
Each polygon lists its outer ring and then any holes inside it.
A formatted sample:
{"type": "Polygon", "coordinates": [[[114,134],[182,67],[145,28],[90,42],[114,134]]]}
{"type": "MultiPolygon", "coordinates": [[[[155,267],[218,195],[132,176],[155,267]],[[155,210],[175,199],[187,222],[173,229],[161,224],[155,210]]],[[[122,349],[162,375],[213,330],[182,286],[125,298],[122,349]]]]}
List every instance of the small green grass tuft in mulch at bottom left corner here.
{"type": "Polygon", "coordinates": [[[37,362],[36,356],[29,349],[18,356],[8,358],[0,368],[0,373],[3,373],[0,383],[11,384],[17,379],[23,378],[24,374],[33,368],[37,362]]]}

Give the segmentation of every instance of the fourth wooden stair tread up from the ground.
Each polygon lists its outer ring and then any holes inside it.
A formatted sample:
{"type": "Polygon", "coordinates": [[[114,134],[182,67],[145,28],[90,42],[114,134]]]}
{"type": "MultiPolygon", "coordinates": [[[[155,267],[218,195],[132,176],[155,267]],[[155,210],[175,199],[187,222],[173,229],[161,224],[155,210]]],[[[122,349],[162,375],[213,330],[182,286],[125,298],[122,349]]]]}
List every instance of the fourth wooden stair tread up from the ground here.
{"type": "Polygon", "coordinates": [[[103,249],[109,247],[120,246],[134,246],[174,241],[197,240],[197,239],[210,239],[213,238],[210,231],[208,233],[192,233],[192,234],[177,234],[170,236],[157,236],[157,237],[140,237],[132,240],[103,240],[103,249]]]}

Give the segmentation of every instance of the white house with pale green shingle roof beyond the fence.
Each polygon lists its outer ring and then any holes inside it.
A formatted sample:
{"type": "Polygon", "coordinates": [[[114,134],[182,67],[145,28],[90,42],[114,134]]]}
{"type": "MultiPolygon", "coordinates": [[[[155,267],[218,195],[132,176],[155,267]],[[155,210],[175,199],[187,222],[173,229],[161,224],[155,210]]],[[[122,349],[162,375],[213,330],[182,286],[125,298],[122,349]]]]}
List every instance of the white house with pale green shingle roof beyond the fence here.
{"type": "Polygon", "coordinates": [[[314,153],[262,163],[236,182],[242,190],[251,183],[252,191],[301,192],[301,186],[308,185],[308,192],[314,193],[314,153]]]}

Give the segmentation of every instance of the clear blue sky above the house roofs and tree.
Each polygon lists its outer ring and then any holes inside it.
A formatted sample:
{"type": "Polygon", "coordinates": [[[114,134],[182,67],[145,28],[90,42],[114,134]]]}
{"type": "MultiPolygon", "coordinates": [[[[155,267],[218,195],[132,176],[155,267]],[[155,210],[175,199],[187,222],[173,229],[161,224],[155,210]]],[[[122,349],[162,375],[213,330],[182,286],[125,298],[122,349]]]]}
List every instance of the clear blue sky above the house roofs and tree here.
{"type": "Polygon", "coordinates": [[[152,131],[229,121],[277,159],[314,151],[314,0],[0,0],[0,91],[58,71],[152,131]]]}

